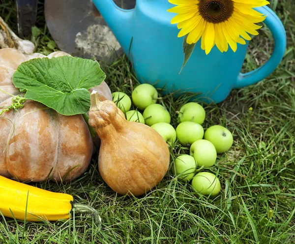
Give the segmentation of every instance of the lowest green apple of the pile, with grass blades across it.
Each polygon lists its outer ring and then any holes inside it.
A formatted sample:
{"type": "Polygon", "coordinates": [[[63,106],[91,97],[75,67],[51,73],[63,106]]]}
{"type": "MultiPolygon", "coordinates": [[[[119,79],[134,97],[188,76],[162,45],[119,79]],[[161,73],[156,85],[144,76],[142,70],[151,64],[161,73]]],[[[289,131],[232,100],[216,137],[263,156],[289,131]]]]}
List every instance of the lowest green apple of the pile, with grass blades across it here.
{"type": "Polygon", "coordinates": [[[217,196],[221,189],[219,179],[209,172],[200,172],[196,174],[191,185],[194,191],[212,197],[217,196]]]}

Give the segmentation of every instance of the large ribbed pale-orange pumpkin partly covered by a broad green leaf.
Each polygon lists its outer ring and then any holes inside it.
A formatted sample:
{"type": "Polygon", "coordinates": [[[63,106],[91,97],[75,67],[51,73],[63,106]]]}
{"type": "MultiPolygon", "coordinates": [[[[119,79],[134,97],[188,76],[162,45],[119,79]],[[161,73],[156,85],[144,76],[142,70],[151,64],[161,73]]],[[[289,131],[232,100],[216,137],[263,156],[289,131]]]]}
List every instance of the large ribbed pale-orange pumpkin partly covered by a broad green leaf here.
{"type": "MultiPolygon", "coordinates": [[[[69,55],[54,52],[47,56],[69,55]]],[[[17,66],[39,53],[24,55],[12,49],[0,49],[0,89],[23,94],[12,83],[17,66]]],[[[91,89],[92,91],[93,89],[91,89]]],[[[100,99],[112,99],[105,82],[94,88],[100,99]]],[[[10,106],[12,97],[0,91],[0,111],[10,106]]],[[[26,100],[18,112],[10,110],[0,116],[0,175],[22,182],[42,182],[48,178],[60,182],[74,180],[89,166],[93,141],[82,115],[63,116],[45,105],[26,100]]],[[[95,140],[99,141],[96,136],[95,140]]]]}

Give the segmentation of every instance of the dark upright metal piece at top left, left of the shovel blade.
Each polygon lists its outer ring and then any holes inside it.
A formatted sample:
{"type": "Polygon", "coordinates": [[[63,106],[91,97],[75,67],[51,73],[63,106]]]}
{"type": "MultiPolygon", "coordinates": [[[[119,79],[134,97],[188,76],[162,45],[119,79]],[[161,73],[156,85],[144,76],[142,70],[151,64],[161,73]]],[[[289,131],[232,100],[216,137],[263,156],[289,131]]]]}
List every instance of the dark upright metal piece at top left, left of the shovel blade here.
{"type": "Polygon", "coordinates": [[[18,36],[23,38],[31,33],[37,19],[38,0],[16,0],[18,36]]]}

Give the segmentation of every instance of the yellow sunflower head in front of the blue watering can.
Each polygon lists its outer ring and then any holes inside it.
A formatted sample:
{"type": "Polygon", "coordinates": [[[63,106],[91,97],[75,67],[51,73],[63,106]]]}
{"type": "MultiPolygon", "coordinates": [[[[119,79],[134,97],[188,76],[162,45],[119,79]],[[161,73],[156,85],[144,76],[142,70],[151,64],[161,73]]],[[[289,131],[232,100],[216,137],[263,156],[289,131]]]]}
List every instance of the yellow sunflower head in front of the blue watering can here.
{"type": "Polygon", "coordinates": [[[178,37],[187,35],[188,44],[201,39],[201,48],[208,54],[216,47],[228,51],[228,45],[236,52],[237,43],[246,44],[249,34],[258,35],[257,30],[266,16],[254,7],[269,4],[267,0],[168,0],[177,6],[168,12],[177,13],[171,24],[181,29],[178,37]],[[249,33],[249,34],[248,34],[249,33]]]}

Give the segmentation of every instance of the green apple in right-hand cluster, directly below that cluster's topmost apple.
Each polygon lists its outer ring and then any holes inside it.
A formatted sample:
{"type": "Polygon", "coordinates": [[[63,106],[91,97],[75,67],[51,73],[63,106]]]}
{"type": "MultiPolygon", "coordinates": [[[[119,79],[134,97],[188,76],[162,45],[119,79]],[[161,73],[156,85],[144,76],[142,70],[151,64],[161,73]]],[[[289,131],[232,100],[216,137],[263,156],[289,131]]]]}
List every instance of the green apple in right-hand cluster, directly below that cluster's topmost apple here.
{"type": "Polygon", "coordinates": [[[185,121],[176,127],[176,135],[179,143],[184,147],[189,147],[195,141],[201,140],[204,136],[204,128],[201,124],[185,121]]]}

